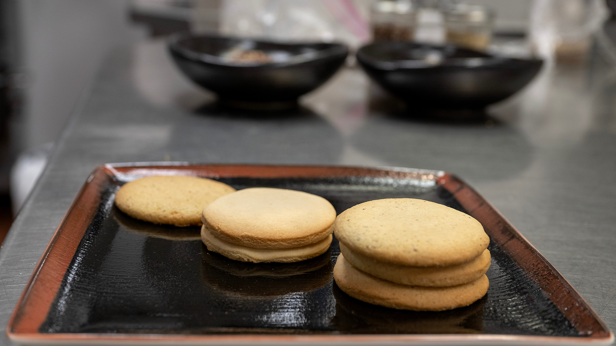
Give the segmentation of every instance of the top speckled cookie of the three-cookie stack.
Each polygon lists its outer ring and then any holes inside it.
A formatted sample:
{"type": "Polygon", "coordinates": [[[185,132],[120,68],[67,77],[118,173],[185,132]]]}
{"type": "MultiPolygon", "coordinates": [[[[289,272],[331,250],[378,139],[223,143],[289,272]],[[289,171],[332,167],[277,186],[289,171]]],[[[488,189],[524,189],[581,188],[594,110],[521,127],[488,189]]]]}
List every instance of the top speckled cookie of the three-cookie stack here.
{"type": "Polygon", "coordinates": [[[481,223],[423,199],[376,199],[342,212],[334,234],[352,251],[391,264],[448,266],[479,256],[490,243],[481,223]]]}

